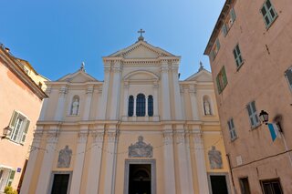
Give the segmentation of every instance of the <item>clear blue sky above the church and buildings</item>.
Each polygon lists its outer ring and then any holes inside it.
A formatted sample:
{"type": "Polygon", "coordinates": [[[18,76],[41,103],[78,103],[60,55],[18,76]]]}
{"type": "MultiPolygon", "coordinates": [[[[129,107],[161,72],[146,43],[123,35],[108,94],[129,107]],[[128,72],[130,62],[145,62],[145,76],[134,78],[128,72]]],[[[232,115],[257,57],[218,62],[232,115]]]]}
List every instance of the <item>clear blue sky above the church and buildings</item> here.
{"type": "Polygon", "coordinates": [[[1,2],[0,42],[26,59],[43,76],[56,80],[75,72],[103,79],[102,56],[145,40],[182,56],[181,79],[191,76],[224,0],[16,0],[1,2]]]}

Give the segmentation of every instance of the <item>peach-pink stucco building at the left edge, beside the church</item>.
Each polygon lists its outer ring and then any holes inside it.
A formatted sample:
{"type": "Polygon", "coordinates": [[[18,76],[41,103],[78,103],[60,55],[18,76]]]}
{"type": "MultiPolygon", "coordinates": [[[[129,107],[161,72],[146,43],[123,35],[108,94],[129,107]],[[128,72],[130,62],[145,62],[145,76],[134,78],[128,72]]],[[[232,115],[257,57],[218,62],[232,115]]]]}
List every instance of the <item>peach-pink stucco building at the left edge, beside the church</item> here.
{"type": "Polygon", "coordinates": [[[29,70],[0,46],[0,193],[5,186],[20,187],[42,99],[47,97],[36,84],[44,78],[30,77],[29,70]]]}

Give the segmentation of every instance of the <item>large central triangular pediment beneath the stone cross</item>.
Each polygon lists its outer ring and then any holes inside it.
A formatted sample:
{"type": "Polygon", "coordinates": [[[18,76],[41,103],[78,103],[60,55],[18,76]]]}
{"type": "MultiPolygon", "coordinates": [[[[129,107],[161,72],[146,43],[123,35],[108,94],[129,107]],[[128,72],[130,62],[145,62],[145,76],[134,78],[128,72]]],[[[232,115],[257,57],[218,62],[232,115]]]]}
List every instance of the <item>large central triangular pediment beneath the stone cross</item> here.
{"type": "Polygon", "coordinates": [[[135,44],[113,53],[110,57],[121,56],[124,58],[157,58],[159,56],[174,56],[160,47],[151,46],[145,41],[138,41],[135,44]]]}

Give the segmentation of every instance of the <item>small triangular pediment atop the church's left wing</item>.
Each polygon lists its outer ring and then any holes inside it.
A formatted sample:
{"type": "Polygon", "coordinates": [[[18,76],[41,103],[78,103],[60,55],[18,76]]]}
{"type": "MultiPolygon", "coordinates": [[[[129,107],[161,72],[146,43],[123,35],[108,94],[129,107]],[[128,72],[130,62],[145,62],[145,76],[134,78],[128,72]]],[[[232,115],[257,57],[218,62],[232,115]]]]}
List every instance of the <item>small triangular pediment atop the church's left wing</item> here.
{"type": "Polygon", "coordinates": [[[85,73],[82,70],[78,70],[73,74],[68,74],[65,77],[59,78],[57,81],[68,81],[70,83],[84,83],[90,81],[98,81],[94,77],[89,76],[89,74],[85,73]]]}

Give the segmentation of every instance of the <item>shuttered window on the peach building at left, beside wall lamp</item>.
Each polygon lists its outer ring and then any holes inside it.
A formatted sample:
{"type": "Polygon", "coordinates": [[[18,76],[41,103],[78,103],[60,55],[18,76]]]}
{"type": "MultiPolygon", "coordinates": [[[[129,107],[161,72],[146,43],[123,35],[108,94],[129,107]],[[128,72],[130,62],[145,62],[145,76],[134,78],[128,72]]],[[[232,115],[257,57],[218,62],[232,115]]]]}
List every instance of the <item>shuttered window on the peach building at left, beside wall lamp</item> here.
{"type": "Polygon", "coordinates": [[[29,124],[28,118],[15,110],[10,119],[9,132],[6,138],[10,138],[10,140],[16,143],[24,144],[29,124]]]}

